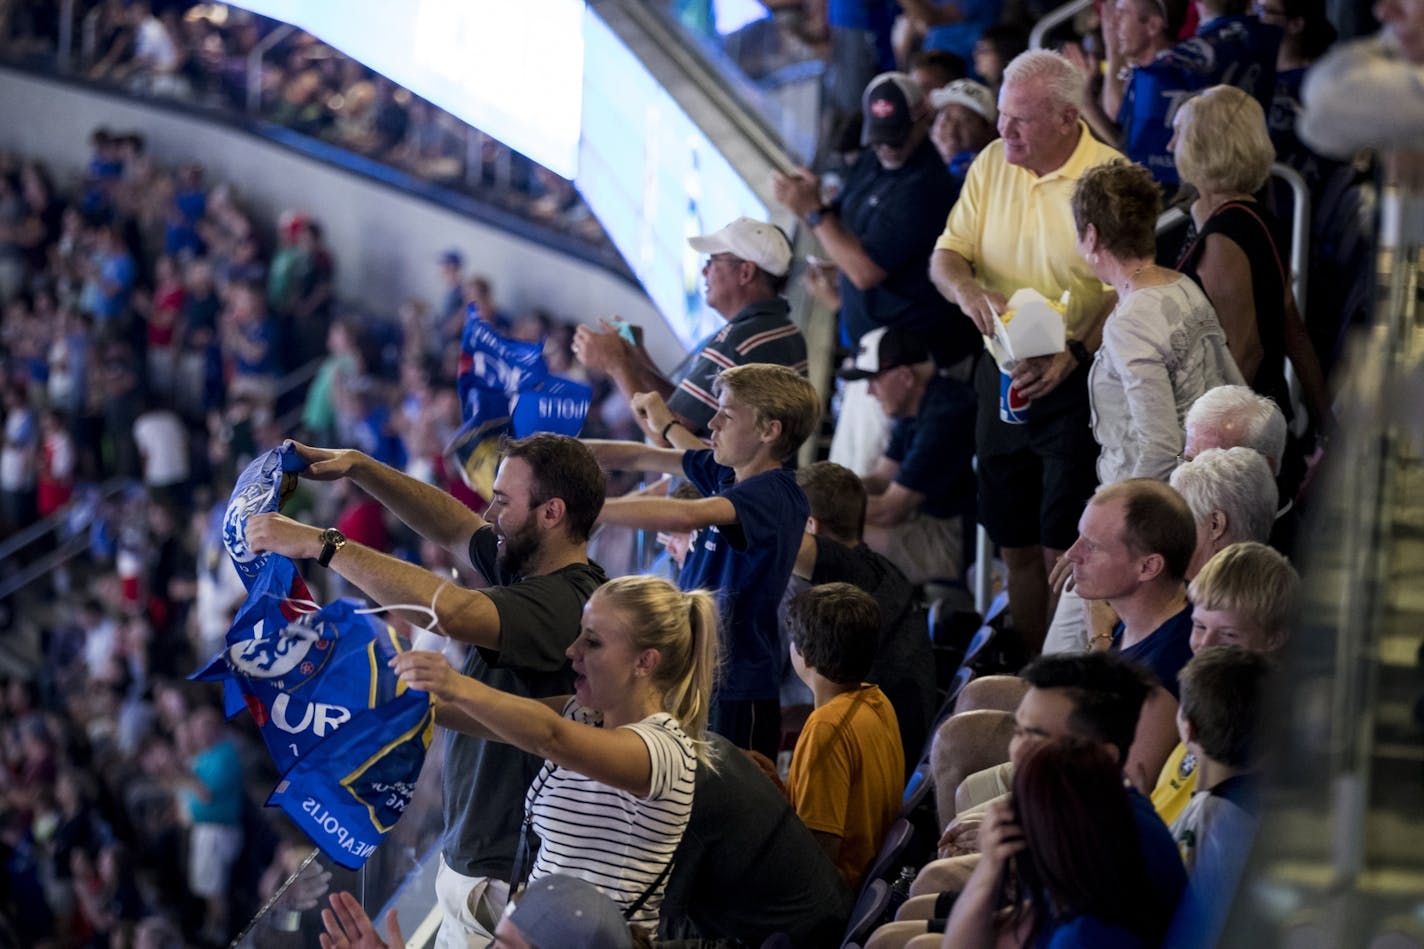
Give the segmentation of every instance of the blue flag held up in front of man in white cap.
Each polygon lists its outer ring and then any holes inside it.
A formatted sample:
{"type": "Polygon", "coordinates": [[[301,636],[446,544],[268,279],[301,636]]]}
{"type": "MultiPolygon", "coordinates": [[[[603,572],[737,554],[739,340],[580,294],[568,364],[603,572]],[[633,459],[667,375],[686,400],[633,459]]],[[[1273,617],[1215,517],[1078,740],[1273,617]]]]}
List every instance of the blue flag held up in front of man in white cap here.
{"type": "Polygon", "coordinates": [[[473,304],[460,338],[456,390],[464,425],[446,450],[459,462],[466,484],[486,500],[493,496],[500,437],[575,436],[592,403],[588,386],[548,373],[543,343],[501,336],[473,304]]]}

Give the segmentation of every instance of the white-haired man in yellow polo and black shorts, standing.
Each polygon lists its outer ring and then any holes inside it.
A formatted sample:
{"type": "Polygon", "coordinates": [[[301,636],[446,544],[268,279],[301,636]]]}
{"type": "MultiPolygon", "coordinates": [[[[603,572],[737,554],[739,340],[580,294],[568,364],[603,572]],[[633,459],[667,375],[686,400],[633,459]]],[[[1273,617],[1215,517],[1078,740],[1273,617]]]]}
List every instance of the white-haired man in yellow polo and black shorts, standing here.
{"type": "Polygon", "coordinates": [[[1014,627],[1031,654],[1048,628],[1048,571],[1078,536],[1078,516],[1096,486],[1088,366],[1116,302],[1078,254],[1071,198],[1082,174],[1121,155],[1078,117],[1084,77],[1062,56],[1032,50],[1004,70],[998,131],[970,167],[930,258],[930,278],[985,336],[1014,291],[1048,299],[1069,291],[1068,349],[1025,359],[1014,386],[1030,399],[1027,420],[1000,418],[1000,370],[975,375],[978,516],[1008,567],[1014,627]]]}

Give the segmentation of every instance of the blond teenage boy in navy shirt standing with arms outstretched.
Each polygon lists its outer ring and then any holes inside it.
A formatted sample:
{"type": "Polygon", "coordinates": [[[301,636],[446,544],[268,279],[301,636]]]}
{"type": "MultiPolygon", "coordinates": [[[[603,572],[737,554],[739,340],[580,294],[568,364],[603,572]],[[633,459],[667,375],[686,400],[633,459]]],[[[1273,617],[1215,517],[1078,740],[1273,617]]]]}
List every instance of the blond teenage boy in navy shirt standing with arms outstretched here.
{"type": "Polygon", "coordinates": [[[776,607],[786,590],[809,506],[786,467],[816,430],[820,396],[793,369],[748,363],[713,383],[712,447],[682,430],[656,393],[638,393],[639,423],[662,440],[588,442],[605,469],[682,474],[698,500],[617,497],[601,522],[642,530],[698,531],[679,586],[715,590],[722,614],[723,677],[709,727],[742,748],[775,757],[780,744],[780,637],[776,607]]]}

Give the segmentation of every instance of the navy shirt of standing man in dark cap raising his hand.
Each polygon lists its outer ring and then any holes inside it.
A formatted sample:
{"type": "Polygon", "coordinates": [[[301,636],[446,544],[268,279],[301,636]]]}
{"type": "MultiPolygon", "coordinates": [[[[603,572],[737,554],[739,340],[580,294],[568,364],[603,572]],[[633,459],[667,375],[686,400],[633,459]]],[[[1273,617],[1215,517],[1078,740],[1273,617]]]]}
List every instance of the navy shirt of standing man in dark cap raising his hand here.
{"type": "Polygon", "coordinates": [[[977,352],[974,323],[930,282],[930,255],[957,195],[928,140],[894,171],[880,165],[873,148],[860,152],[836,212],[886,279],[862,291],[842,271],[840,323],[852,346],[871,329],[893,325],[923,333],[941,365],[977,352]]]}

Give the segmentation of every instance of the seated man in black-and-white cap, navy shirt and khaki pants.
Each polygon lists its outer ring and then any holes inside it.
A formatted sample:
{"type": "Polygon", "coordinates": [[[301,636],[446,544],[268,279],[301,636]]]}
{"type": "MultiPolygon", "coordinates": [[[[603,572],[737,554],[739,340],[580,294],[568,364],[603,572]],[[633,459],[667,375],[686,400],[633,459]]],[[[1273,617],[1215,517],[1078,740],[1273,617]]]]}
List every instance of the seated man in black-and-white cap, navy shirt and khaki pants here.
{"type": "Polygon", "coordinates": [[[864,543],[911,583],[954,580],[974,516],[974,389],[963,366],[943,370],[923,335],[881,326],[860,338],[842,379],[869,382],[891,419],[890,443],[862,480],[864,543]]]}

